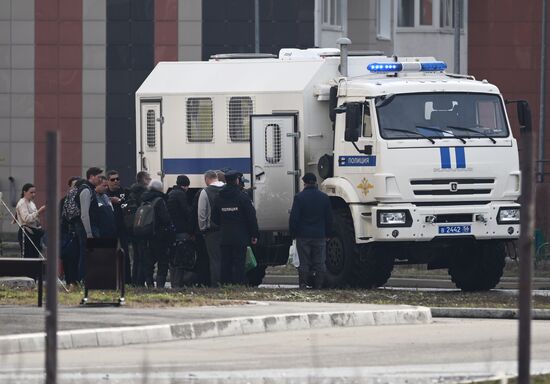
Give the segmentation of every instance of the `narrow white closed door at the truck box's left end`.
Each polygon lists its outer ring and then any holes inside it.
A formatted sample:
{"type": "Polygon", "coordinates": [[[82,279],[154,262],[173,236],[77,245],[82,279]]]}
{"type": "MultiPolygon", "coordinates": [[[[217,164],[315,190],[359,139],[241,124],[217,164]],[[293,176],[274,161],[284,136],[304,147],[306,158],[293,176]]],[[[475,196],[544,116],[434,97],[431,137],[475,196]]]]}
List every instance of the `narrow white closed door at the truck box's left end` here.
{"type": "Polygon", "coordinates": [[[162,171],[162,108],[160,100],[141,102],[141,170],[164,178],[162,171]]]}

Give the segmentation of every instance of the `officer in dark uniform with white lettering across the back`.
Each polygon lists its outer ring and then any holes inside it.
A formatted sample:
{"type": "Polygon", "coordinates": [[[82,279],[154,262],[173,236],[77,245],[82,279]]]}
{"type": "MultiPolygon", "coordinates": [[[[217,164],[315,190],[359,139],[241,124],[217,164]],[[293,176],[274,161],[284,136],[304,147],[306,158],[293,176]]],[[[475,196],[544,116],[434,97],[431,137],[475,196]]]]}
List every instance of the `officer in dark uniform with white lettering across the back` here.
{"type": "Polygon", "coordinates": [[[252,201],[241,191],[239,177],[230,170],[225,174],[226,185],[214,203],[212,220],[220,225],[222,282],[244,284],[246,247],[256,244],[259,237],[256,210],[252,201]]]}

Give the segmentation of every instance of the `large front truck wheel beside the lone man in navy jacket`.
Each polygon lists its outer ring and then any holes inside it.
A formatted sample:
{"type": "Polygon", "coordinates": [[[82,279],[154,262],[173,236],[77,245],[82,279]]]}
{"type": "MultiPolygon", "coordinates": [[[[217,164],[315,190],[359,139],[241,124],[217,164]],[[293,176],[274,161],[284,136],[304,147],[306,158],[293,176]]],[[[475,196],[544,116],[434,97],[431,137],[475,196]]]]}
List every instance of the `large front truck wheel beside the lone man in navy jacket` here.
{"type": "Polygon", "coordinates": [[[335,235],[327,243],[325,285],[329,288],[352,285],[354,260],[358,258],[355,245],[353,220],[347,209],[337,209],[334,214],[335,235]]]}

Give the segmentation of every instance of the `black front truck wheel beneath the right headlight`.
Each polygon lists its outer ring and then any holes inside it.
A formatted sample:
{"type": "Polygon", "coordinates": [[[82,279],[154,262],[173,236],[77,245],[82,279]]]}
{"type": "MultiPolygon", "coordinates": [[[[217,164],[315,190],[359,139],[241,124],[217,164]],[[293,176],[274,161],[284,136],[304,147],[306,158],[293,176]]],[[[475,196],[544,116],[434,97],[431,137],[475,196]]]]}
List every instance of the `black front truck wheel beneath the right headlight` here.
{"type": "Polygon", "coordinates": [[[505,266],[506,249],[501,241],[483,241],[458,247],[451,259],[449,275],[465,292],[496,287],[505,266]]]}

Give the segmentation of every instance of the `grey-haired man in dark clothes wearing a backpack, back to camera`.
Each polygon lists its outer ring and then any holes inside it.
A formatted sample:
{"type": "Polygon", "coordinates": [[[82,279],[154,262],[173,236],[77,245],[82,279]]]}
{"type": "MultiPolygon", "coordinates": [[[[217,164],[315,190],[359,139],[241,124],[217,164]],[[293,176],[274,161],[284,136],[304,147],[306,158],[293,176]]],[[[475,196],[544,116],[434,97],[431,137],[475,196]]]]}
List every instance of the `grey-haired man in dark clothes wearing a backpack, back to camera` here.
{"type": "Polygon", "coordinates": [[[149,239],[144,239],[145,283],[153,287],[153,271],[157,264],[157,288],[164,288],[168,275],[168,245],[170,244],[172,221],[166,207],[166,195],[160,180],[151,180],[149,189],[143,193],[142,204],[150,203],[155,212],[155,233],[149,239]]]}

